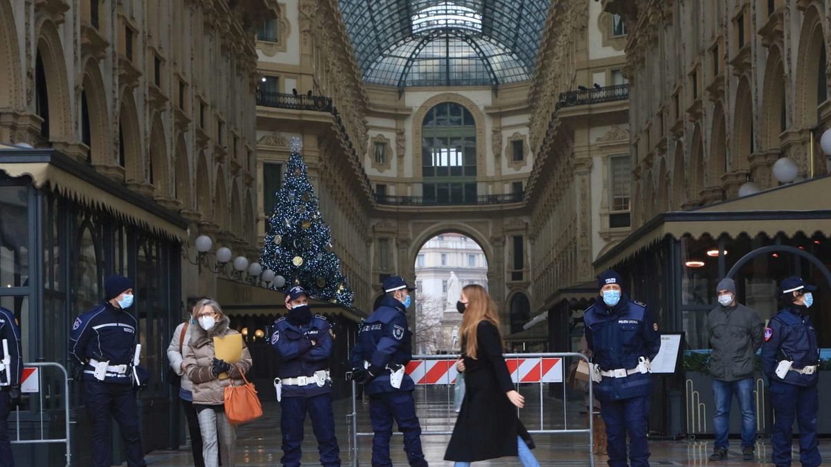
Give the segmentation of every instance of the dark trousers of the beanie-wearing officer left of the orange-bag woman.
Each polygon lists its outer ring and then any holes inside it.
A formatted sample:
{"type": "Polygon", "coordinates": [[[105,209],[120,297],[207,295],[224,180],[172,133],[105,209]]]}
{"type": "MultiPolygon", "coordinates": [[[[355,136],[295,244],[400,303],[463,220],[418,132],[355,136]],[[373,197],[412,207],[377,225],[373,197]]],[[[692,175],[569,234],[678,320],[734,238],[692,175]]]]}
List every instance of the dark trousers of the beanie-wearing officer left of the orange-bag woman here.
{"type": "Polygon", "coordinates": [[[116,419],[127,450],[127,465],[143,467],[139,408],[129,384],[84,381],[84,404],[92,422],[92,465],[110,467],[112,462],[112,419],[116,419]]]}

